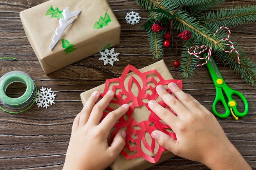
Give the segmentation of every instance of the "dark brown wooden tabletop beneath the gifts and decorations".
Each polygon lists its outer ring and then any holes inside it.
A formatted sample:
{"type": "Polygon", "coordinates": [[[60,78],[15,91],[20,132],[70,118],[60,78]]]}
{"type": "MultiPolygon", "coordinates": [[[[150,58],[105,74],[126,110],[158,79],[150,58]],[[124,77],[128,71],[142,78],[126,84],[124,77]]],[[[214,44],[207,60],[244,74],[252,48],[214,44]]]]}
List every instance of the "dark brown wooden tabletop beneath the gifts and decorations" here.
{"type": "MultiPolygon", "coordinates": [[[[140,29],[148,13],[134,0],[108,0],[121,26],[121,41],[115,46],[119,62],[114,66],[103,65],[97,53],[52,74],[45,75],[27,40],[19,12],[46,0],[0,0],[0,58],[15,57],[17,61],[0,60],[0,76],[9,71],[23,71],[30,75],[39,88],[52,88],[56,101],[48,109],[34,104],[20,114],[0,110],[0,169],[6,170],[60,170],[63,167],[70,139],[72,121],[81,110],[80,93],[101,85],[106,79],[119,77],[127,64],[143,68],[158,60],[150,55],[147,33],[140,29]],[[139,24],[127,24],[124,19],[130,11],[139,12],[139,24]]],[[[225,6],[255,4],[254,0],[226,0],[225,6]]],[[[231,28],[234,41],[248,52],[256,62],[256,22],[231,28]]],[[[181,51],[181,41],[177,51],[181,51]]],[[[180,56],[180,55],[179,55],[180,56]]],[[[183,79],[173,66],[175,52],[164,53],[164,62],[175,79],[182,79],[184,91],[211,109],[215,88],[205,66],[197,68],[191,79],[183,79]]],[[[226,83],[240,91],[249,102],[249,113],[235,121],[233,117],[218,119],[227,137],[246,161],[256,169],[256,87],[243,82],[228,66],[218,63],[226,83]]],[[[15,93],[17,89],[11,89],[15,93]]],[[[11,92],[11,93],[12,93],[11,92]]],[[[3,106],[2,104],[0,106],[3,106]]],[[[202,146],[207,147],[207,146],[202,146]]],[[[174,157],[148,170],[208,169],[201,163],[174,157]]],[[[110,170],[110,168],[108,168],[110,170]]]]}

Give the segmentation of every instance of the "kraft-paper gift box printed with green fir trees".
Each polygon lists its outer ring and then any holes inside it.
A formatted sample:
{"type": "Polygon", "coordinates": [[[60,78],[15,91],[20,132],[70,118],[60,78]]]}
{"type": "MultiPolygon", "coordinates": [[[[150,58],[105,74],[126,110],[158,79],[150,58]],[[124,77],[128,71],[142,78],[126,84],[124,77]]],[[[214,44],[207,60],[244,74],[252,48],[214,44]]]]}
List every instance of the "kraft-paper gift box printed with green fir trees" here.
{"type": "Polygon", "coordinates": [[[45,74],[119,44],[121,26],[106,0],[49,0],[21,11],[20,18],[45,74]],[[81,12],[65,22],[67,7],[70,13],[81,12]],[[50,50],[61,19],[63,25],[74,21],[58,34],[59,40],[50,50]]]}

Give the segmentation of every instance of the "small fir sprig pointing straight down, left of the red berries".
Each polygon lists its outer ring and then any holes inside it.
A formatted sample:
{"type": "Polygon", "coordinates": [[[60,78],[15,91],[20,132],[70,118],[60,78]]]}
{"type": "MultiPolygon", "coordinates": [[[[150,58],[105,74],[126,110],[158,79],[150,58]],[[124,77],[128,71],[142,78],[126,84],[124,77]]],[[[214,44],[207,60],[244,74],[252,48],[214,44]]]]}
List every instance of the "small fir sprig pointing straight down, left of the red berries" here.
{"type": "Polygon", "coordinates": [[[163,56],[164,46],[163,46],[163,34],[151,33],[148,37],[150,51],[154,58],[161,58],[163,56]]]}

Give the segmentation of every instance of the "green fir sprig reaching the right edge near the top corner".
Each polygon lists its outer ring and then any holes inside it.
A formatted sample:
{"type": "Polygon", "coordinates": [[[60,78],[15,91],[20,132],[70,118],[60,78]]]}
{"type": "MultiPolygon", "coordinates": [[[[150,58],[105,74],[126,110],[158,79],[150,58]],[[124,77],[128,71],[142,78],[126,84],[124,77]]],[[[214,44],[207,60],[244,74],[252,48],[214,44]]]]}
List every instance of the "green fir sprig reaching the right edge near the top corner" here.
{"type": "Polygon", "coordinates": [[[256,20],[256,6],[229,7],[216,13],[209,11],[204,18],[205,26],[211,29],[218,29],[220,26],[240,26],[256,20]]]}

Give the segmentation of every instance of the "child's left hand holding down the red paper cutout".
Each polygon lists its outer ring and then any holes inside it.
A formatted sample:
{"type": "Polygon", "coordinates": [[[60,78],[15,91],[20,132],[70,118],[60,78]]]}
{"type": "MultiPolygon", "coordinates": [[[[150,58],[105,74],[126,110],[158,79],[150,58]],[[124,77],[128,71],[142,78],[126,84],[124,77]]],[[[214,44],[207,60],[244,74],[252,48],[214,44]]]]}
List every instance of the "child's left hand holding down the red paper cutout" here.
{"type": "Polygon", "coordinates": [[[100,122],[103,110],[113,96],[114,93],[109,91],[97,102],[99,92],[95,91],[76,116],[63,170],[103,170],[115,161],[124,148],[124,130],[117,132],[110,146],[107,138],[116,121],[127,112],[128,105],[112,111],[100,122]]]}

